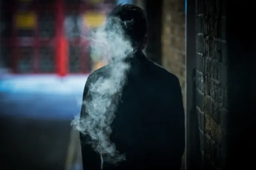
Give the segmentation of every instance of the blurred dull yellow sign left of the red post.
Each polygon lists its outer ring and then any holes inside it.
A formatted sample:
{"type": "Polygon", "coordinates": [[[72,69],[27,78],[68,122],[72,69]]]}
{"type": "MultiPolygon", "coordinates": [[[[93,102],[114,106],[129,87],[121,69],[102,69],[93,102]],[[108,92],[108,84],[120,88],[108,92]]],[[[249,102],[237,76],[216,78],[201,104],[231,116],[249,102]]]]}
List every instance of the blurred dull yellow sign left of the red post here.
{"type": "Polygon", "coordinates": [[[16,28],[32,29],[36,26],[36,15],[32,12],[16,14],[15,16],[16,28]]]}

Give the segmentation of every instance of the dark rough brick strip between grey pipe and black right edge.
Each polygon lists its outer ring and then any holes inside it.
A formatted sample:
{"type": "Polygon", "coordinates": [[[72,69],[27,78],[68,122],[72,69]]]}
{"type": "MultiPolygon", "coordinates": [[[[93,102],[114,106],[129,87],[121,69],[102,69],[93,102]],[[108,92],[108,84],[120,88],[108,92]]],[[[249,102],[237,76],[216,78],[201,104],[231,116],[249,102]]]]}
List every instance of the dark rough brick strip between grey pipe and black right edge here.
{"type": "Polygon", "coordinates": [[[223,0],[196,2],[196,111],[204,169],[223,169],[227,116],[226,16],[223,0]]]}

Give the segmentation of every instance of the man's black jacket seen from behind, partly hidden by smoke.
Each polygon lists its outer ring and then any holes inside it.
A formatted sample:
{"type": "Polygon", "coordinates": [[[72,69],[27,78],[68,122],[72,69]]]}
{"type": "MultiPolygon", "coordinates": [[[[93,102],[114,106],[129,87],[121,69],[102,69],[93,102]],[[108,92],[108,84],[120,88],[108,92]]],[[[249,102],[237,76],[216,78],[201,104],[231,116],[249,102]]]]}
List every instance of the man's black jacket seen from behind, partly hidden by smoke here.
{"type": "MultiPolygon", "coordinates": [[[[148,60],[141,51],[128,62],[131,69],[110,137],[116,148],[126,154],[126,160],[103,169],[179,170],[185,148],[184,108],[179,80],[148,60]]],[[[90,83],[106,76],[108,69],[106,65],[88,77],[83,99],[86,99],[90,83]]],[[[84,107],[81,117],[85,116],[84,107]]],[[[100,155],[86,144],[87,137],[80,134],[84,170],[100,170],[100,155]]]]}

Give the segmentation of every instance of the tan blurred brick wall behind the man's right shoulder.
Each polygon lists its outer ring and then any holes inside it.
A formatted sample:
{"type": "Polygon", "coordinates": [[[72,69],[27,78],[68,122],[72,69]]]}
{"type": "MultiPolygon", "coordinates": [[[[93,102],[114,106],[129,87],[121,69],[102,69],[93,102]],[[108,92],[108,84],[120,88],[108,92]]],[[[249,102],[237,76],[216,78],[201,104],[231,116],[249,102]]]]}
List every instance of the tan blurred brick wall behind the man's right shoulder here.
{"type": "Polygon", "coordinates": [[[185,101],[185,1],[163,0],[162,66],[180,79],[185,101]]]}

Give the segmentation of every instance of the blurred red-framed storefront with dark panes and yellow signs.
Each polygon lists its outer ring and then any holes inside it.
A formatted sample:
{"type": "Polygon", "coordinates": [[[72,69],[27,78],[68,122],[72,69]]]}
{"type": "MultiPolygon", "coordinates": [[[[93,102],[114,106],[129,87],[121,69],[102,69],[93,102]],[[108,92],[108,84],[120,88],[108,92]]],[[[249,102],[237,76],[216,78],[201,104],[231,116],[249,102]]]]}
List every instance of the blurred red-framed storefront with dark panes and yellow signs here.
{"type": "Polygon", "coordinates": [[[90,73],[103,64],[91,58],[86,37],[104,22],[106,12],[116,3],[116,0],[2,0],[1,65],[18,74],[90,73]]]}

